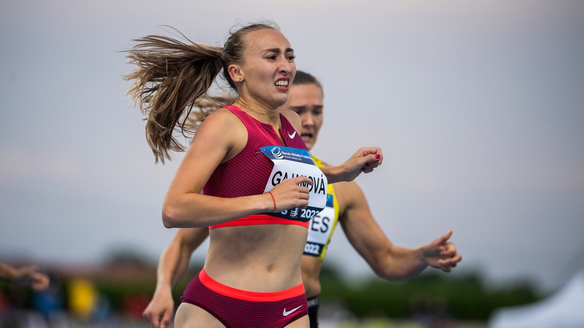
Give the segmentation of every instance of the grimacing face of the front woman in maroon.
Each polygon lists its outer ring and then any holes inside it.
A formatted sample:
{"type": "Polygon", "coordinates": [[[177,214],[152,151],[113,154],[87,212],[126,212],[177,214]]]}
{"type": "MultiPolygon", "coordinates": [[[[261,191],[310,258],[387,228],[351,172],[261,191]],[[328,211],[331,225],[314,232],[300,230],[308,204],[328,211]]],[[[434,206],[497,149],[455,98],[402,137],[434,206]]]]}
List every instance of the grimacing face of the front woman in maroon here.
{"type": "Polygon", "coordinates": [[[245,40],[243,92],[267,107],[280,107],[296,75],[294,50],[283,34],[272,29],[250,32],[245,40]]]}

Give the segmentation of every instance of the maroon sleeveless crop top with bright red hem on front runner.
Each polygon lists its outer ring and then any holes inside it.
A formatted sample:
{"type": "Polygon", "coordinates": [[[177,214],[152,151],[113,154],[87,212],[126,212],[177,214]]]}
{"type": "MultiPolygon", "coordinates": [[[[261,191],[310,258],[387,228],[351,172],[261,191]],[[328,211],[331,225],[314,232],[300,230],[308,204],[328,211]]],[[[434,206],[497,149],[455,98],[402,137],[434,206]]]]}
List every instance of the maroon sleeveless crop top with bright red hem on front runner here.
{"type": "MultiPolygon", "coordinates": [[[[295,136],[294,132],[296,130],[294,130],[292,124],[282,114],[279,114],[282,125],[279,132],[284,142],[282,142],[280,136],[274,131],[272,125],[256,120],[237,106],[225,106],[225,108],[235,114],[245,125],[248,131],[248,142],[244,149],[235,155],[234,158],[217,166],[203,187],[203,193],[208,196],[223,198],[263,194],[266,183],[272,173],[274,163],[263,155],[260,148],[276,145],[305,149],[307,152],[308,149],[301,138],[290,138],[290,136],[295,136]]],[[[209,229],[224,226],[257,224],[295,224],[308,227],[308,222],[276,218],[268,214],[255,214],[223,224],[212,225],[209,226],[209,229]]]]}

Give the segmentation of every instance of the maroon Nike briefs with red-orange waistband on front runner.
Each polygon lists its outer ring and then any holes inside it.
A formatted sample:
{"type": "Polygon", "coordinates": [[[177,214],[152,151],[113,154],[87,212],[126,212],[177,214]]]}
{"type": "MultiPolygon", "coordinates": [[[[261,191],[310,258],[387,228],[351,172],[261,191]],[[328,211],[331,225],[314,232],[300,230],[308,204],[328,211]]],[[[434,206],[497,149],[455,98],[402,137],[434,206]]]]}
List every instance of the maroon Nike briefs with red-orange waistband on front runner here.
{"type": "Polygon", "coordinates": [[[279,292],[243,291],[213,280],[204,268],[180,301],[206,310],[227,328],[281,328],[308,315],[303,284],[279,292]]]}

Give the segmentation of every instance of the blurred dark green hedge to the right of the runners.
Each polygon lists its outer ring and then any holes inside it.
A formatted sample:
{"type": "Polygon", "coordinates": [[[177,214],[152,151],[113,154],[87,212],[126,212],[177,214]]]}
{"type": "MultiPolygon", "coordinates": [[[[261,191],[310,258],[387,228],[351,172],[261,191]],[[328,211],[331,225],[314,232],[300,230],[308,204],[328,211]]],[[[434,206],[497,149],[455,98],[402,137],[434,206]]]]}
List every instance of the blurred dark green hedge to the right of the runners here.
{"type": "Polygon", "coordinates": [[[323,267],[321,304],[340,302],[357,317],[433,315],[487,320],[495,309],[541,299],[527,283],[486,288],[478,274],[424,273],[407,281],[392,282],[373,277],[359,284],[347,284],[338,272],[335,268],[323,267]]]}

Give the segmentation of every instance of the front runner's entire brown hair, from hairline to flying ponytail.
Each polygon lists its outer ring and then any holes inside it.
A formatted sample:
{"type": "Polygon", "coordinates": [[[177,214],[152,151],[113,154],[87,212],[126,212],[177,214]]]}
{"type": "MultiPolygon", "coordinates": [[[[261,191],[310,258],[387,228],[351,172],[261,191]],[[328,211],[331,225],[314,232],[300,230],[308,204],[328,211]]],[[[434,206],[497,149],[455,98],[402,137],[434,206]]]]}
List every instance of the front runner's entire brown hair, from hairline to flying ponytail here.
{"type": "Polygon", "coordinates": [[[273,22],[253,23],[237,30],[232,27],[224,47],[218,47],[194,43],[170,28],[177,39],[150,35],[133,40],[135,45],[126,53],[128,62],[136,68],[124,76],[126,81],[133,81],[126,93],[131,104],[146,116],[148,145],[155,161],[162,163],[172,159],[172,151],[186,149],[175,132],[192,137],[208,114],[235,99],[213,95],[210,90],[223,70],[222,78],[237,93],[227,68],[244,61],[245,36],[255,30],[279,30],[273,22]],[[191,113],[193,108],[196,111],[191,113]]]}

